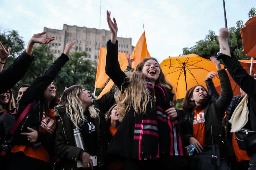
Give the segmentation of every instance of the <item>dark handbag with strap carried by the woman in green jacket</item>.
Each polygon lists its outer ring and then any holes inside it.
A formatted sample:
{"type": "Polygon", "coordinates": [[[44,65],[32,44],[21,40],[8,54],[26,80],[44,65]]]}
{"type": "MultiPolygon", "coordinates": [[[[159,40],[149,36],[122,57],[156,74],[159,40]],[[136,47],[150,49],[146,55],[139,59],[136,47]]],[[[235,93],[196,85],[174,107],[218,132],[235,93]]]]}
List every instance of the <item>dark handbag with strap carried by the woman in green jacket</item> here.
{"type": "Polygon", "coordinates": [[[220,149],[218,144],[213,144],[213,133],[211,127],[212,145],[204,146],[202,153],[191,156],[190,168],[196,170],[217,170],[220,166],[220,149]]]}

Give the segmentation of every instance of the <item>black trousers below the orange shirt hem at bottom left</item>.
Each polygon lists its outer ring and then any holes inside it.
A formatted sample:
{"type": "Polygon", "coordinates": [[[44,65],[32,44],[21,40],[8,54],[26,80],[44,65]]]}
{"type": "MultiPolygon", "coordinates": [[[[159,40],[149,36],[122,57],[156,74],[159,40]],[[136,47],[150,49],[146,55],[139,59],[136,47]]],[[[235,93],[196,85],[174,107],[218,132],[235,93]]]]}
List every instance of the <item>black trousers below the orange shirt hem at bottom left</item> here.
{"type": "Polygon", "coordinates": [[[7,161],[7,170],[50,170],[51,164],[26,156],[23,152],[10,153],[7,161]]]}

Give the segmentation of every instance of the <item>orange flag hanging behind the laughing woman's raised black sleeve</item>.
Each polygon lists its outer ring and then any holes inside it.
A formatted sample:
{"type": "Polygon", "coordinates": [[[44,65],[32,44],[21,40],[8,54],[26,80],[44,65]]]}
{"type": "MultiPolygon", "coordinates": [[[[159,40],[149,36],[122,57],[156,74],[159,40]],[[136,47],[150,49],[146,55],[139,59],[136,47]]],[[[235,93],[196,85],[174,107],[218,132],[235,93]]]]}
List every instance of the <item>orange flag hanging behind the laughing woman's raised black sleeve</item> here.
{"type": "MultiPolygon", "coordinates": [[[[100,46],[99,61],[98,61],[96,80],[95,80],[96,88],[100,88],[100,89],[104,86],[104,84],[109,78],[109,76],[105,72],[106,56],[107,56],[107,49],[100,46]]],[[[118,52],[118,61],[119,61],[120,67],[125,62],[127,62],[127,57],[128,56],[126,55],[126,53],[118,52]]],[[[126,63],[126,67],[127,67],[127,63],[126,63]]]]}

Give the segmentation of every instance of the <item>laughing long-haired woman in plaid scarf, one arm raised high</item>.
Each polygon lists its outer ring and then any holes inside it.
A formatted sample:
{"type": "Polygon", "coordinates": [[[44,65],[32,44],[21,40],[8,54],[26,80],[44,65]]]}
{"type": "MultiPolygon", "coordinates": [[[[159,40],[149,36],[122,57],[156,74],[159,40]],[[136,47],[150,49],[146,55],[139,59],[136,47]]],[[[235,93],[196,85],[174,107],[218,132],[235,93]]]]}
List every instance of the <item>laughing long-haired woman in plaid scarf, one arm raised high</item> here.
{"type": "Polygon", "coordinates": [[[118,107],[125,116],[108,153],[124,158],[124,169],[186,167],[177,111],[172,107],[172,85],[155,58],[144,58],[136,71],[121,71],[118,63],[117,24],[107,11],[111,40],[107,42],[106,73],[120,90],[118,107]]]}

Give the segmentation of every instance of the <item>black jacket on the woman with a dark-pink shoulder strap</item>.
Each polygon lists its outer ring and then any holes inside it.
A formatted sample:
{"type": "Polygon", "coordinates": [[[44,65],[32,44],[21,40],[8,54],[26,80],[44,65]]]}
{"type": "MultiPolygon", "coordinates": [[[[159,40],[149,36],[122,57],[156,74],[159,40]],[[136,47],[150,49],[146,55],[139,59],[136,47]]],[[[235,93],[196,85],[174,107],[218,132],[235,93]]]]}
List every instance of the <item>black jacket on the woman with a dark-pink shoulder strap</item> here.
{"type": "MultiPolygon", "coordinates": [[[[38,132],[38,139],[36,145],[44,145],[49,151],[53,151],[55,134],[41,133],[39,128],[43,117],[43,104],[40,101],[40,97],[43,95],[45,89],[51,84],[51,82],[58,75],[61,67],[69,60],[68,56],[61,54],[53,64],[47,69],[47,71],[24,92],[20,99],[20,105],[17,112],[16,119],[21,115],[23,110],[28,104],[33,103],[31,110],[27,113],[26,117],[21,121],[17,129],[13,134],[13,145],[27,145],[33,146],[25,135],[21,135],[21,132],[28,132],[27,127],[33,128],[38,132]]],[[[53,109],[53,108],[52,108],[53,109]]],[[[50,154],[52,156],[52,154],[50,154]]]]}

